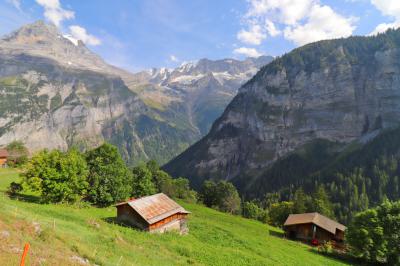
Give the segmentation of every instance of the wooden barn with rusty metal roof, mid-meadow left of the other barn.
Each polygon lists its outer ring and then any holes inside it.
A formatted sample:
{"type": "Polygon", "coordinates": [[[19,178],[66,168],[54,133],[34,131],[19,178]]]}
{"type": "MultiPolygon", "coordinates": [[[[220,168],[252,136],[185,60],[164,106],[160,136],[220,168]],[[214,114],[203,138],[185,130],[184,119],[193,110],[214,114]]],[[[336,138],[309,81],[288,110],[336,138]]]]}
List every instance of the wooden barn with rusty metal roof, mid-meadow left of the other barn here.
{"type": "Polygon", "coordinates": [[[116,205],[117,221],[136,228],[164,233],[170,230],[185,234],[190,213],[163,193],[131,199],[116,205]]]}

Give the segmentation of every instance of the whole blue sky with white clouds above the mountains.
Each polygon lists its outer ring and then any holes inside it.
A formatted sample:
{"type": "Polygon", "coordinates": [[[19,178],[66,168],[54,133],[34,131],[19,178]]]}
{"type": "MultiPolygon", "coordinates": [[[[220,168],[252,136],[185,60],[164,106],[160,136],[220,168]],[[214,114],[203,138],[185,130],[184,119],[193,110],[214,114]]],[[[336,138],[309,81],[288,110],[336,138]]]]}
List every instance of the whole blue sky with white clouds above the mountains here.
{"type": "Polygon", "coordinates": [[[400,0],[1,0],[0,34],[43,19],[131,71],[278,56],[400,26],[400,0]]]}

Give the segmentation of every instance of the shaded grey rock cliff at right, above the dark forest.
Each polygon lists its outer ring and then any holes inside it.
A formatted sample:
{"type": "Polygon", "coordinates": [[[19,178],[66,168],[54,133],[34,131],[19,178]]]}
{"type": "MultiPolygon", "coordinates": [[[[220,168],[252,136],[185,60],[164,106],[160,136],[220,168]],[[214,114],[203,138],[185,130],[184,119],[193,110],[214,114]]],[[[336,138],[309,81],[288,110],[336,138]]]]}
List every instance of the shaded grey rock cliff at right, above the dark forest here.
{"type": "MultiPolygon", "coordinates": [[[[336,146],[400,122],[400,31],[322,41],[262,68],[210,133],[165,166],[173,175],[231,180],[264,192],[275,162],[324,140],[336,146]]],[[[304,166],[307,167],[307,166],[304,166]]],[[[315,169],[317,170],[317,169],[315,169]]]]}

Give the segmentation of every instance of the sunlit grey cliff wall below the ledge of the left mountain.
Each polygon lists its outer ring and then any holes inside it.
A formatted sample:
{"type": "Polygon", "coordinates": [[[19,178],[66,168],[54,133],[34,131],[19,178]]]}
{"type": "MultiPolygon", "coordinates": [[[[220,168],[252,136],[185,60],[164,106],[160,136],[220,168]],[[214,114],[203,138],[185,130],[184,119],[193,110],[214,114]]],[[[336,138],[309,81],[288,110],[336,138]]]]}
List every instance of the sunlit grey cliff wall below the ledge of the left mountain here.
{"type": "MultiPolygon", "coordinates": [[[[0,135],[2,143],[22,140],[32,150],[93,147],[110,139],[110,124],[135,124],[146,107],[115,76],[66,69],[51,60],[2,57],[0,135]],[[24,62],[21,65],[20,62],[24,62]],[[6,69],[6,70],[5,70],[6,69]],[[11,71],[13,69],[13,71],[11,71]]],[[[130,132],[136,136],[136,131],[130,132]]],[[[131,152],[140,158],[140,138],[131,152]]]]}

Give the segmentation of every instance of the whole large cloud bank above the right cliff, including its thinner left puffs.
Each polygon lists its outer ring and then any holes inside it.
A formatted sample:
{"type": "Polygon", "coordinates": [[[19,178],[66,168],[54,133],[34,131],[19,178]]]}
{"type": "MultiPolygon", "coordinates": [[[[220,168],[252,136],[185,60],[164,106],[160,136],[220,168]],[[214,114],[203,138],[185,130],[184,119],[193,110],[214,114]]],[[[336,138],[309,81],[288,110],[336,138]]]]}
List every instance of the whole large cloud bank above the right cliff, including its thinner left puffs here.
{"type": "Polygon", "coordinates": [[[303,45],[347,37],[355,29],[355,18],[340,15],[319,0],[247,1],[249,9],[243,21],[250,30],[241,29],[237,34],[237,38],[246,44],[260,45],[268,36],[276,37],[283,32],[285,39],[303,45]]]}

